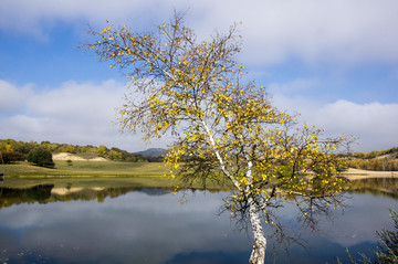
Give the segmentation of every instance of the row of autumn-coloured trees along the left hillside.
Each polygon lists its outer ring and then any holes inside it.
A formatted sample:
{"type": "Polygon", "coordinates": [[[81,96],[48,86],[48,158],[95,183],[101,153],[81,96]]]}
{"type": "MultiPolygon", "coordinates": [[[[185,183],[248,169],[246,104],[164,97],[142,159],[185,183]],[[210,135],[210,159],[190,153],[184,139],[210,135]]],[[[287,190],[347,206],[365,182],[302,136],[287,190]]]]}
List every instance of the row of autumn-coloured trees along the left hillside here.
{"type": "Polygon", "coordinates": [[[4,163],[12,163],[17,161],[25,160],[29,152],[35,148],[43,148],[52,154],[69,152],[69,154],[88,154],[92,156],[100,156],[111,160],[139,162],[139,161],[163,161],[161,157],[144,157],[139,154],[132,154],[119,148],[107,148],[105,145],[95,147],[92,145],[78,146],[70,144],[56,144],[50,141],[17,141],[13,139],[0,139],[0,151],[4,163]]]}

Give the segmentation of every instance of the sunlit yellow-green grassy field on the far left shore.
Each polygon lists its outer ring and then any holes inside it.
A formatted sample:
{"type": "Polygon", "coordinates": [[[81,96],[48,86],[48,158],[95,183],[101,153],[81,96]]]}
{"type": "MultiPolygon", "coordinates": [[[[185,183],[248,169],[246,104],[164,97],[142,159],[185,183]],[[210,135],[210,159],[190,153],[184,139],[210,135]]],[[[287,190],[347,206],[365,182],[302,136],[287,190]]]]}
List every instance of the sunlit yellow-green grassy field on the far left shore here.
{"type": "MultiPolygon", "coordinates": [[[[56,188],[121,188],[121,187],[159,187],[174,188],[178,180],[168,177],[169,169],[163,162],[121,162],[121,161],[72,161],[56,160],[55,168],[42,168],[28,162],[1,165],[6,171],[2,187],[30,188],[36,184],[54,184],[56,188]]],[[[192,188],[200,189],[201,183],[192,188]]],[[[224,187],[209,181],[209,189],[224,187]]]]}

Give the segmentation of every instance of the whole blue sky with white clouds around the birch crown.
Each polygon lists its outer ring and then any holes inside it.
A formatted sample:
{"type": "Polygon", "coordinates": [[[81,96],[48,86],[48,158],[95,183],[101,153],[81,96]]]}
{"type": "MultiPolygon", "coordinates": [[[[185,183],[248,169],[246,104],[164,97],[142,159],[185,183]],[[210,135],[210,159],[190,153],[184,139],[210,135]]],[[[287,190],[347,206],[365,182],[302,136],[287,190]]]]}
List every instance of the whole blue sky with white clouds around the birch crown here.
{"type": "Polygon", "coordinates": [[[164,147],[121,134],[115,109],[125,80],[94,54],[87,24],[150,30],[188,10],[199,39],[242,22],[239,60],[280,109],[327,135],[355,135],[354,150],[398,146],[396,0],[2,0],[0,138],[119,147],[164,147]]]}

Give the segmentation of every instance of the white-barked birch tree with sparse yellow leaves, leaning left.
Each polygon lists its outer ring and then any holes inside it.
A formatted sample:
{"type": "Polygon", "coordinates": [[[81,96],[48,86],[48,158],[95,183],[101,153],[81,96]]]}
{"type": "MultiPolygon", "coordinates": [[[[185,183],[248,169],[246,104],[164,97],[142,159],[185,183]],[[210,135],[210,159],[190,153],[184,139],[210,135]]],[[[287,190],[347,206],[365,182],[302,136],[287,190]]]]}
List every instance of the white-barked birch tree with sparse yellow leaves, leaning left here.
{"type": "Polygon", "coordinates": [[[175,13],[153,32],[107,24],[88,33],[96,41],[83,49],[132,82],[122,128],[140,131],[145,140],[172,135],[165,157],[172,178],[203,187],[209,180],[229,183],[226,208],[232,218],[250,220],[249,263],[264,263],[263,229],[281,229],[273,212],[283,202],[294,201],[298,218],[312,225],[339,204],[344,180],[333,151],[346,139],[322,139],[321,129],[298,125],[271,105],[265,88],[247,81],[237,62],[237,25],[199,41],[175,13]]]}

